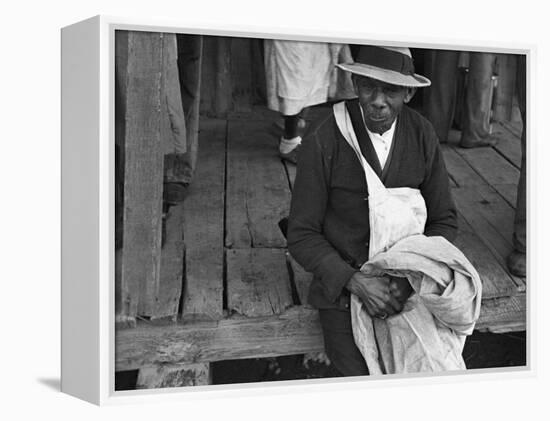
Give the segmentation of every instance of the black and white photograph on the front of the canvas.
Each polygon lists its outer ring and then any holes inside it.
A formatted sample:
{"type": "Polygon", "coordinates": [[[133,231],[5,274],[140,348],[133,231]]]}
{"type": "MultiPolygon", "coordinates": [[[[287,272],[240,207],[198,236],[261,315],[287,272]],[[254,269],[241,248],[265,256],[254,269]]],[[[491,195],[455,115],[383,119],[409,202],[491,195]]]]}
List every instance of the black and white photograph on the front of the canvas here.
{"type": "Polygon", "coordinates": [[[114,38],[115,391],[528,368],[527,50],[114,38]]]}

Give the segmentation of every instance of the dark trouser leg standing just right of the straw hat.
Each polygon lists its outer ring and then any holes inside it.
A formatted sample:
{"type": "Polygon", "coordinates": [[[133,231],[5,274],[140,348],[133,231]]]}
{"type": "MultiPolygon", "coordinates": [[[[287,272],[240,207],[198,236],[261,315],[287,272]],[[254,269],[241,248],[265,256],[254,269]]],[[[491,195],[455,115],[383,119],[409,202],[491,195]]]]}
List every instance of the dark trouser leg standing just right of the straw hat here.
{"type": "Polygon", "coordinates": [[[425,72],[432,84],[424,91],[424,110],[442,143],[447,142],[451,129],[459,54],[449,50],[426,52],[425,72]]]}

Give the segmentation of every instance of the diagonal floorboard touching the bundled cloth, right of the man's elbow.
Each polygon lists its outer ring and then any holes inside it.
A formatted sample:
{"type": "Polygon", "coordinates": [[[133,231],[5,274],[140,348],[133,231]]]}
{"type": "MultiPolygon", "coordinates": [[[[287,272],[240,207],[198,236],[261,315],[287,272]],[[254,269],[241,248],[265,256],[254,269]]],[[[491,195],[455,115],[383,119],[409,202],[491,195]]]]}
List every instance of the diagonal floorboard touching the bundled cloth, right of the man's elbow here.
{"type": "Polygon", "coordinates": [[[483,284],[483,298],[504,297],[515,294],[517,286],[493,253],[479,240],[462,215],[458,219],[458,236],[455,245],[477,269],[483,284]]]}

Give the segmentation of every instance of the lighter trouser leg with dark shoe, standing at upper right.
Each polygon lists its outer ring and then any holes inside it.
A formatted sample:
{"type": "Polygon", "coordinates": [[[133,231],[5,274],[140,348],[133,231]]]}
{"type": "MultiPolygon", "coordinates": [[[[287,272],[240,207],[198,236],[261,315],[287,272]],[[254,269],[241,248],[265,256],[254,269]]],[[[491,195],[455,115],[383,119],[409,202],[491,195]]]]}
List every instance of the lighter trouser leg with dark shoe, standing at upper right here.
{"type": "Polygon", "coordinates": [[[464,121],[460,139],[460,146],[464,148],[495,144],[495,140],[489,137],[492,76],[495,60],[495,54],[470,53],[464,121]]]}

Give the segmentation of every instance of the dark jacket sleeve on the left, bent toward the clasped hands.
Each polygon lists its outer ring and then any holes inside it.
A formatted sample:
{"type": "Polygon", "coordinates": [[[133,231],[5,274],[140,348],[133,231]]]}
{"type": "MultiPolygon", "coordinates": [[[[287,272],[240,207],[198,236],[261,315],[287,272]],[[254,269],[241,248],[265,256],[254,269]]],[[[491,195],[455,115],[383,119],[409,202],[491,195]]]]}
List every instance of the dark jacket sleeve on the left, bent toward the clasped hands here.
{"type": "Polygon", "coordinates": [[[296,261],[312,272],[325,296],[335,302],[356,272],[323,235],[330,192],[331,151],[323,150],[318,133],[302,142],[288,225],[288,249],[296,261]]]}

